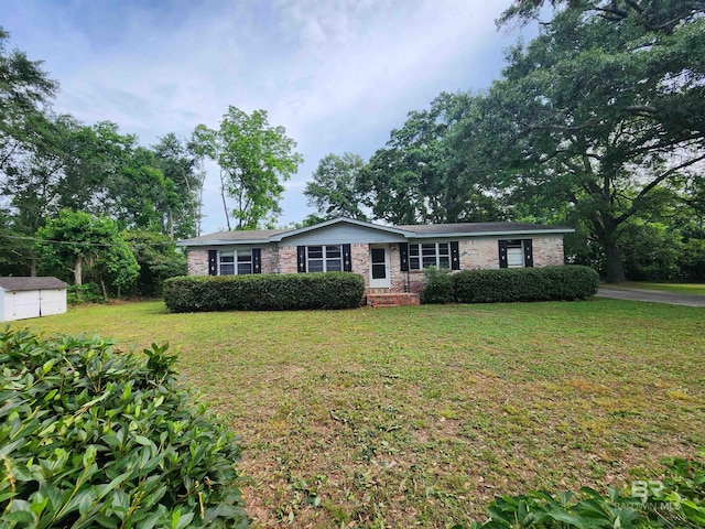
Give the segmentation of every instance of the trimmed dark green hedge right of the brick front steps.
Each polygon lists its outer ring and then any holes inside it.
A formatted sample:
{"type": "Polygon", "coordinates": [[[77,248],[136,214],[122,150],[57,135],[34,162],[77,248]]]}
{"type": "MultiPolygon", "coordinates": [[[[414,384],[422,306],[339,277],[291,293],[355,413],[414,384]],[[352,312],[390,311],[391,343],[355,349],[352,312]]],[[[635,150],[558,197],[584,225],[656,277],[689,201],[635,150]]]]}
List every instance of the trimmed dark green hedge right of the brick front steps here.
{"type": "Polygon", "coordinates": [[[582,300],[599,287],[598,273],[581,266],[464,270],[452,278],[460,303],[582,300]]]}

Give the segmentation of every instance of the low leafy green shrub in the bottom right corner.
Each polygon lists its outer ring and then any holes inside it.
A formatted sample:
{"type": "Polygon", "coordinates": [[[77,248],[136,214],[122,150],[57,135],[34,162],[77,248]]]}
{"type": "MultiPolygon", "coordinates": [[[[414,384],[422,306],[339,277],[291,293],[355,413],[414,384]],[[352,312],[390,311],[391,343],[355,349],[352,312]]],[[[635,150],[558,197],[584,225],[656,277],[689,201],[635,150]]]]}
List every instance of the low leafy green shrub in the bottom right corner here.
{"type": "MultiPolygon", "coordinates": [[[[600,495],[584,487],[578,494],[534,490],[497,498],[489,519],[473,529],[564,528],[701,528],[705,527],[705,452],[701,460],[665,460],[666,476],[652,481],[644,494],[614,488],[600,495]]],[[[648,483],[648,482],[647,482],[648,483]]],[[[462,526],[455,526],[460,529],[462,526]]]]}

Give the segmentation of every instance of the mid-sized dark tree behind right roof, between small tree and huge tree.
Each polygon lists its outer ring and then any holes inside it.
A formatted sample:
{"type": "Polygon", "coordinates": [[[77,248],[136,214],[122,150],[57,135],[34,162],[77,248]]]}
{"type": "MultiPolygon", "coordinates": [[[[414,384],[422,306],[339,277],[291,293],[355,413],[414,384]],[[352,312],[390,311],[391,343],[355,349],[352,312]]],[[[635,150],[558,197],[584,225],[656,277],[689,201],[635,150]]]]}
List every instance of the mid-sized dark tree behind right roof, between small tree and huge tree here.
{"type": "Polygon", "coordinates": [[[392,130],[360,177],[360,188],[376,218],[394,224],[459,223],[503,217],[492,182],[481,165],[470,163],[468,120],[477,98],[441,94],[429,110],[409,112],[392,130]]]}

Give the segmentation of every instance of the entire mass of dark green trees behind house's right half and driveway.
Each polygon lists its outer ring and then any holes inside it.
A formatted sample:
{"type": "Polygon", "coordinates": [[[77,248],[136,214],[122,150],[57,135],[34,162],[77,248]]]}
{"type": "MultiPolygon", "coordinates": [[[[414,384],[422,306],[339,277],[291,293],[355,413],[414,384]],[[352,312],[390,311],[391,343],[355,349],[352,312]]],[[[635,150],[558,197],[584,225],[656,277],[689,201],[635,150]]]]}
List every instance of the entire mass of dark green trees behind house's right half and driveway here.
{"type": "MultiPolygon", "coordinates": [[[[545,3],[519,0],[500,23],[544,14],[545,3]]],[[[550,22],[510,50],[488,90],[441,94],[411,111],[348,192],[372,218],[395,224],[567,224],[577,229],[568,258],[622,281],[625,267],[636,276],[698,247],[705,4],[551,3],[550,22]],[[662,236],[663,226],[679,235],[662,236]]],[[[316,196],[341,196],[337,183],[310,183],[316,196]]]]}

